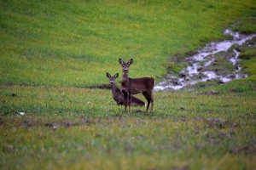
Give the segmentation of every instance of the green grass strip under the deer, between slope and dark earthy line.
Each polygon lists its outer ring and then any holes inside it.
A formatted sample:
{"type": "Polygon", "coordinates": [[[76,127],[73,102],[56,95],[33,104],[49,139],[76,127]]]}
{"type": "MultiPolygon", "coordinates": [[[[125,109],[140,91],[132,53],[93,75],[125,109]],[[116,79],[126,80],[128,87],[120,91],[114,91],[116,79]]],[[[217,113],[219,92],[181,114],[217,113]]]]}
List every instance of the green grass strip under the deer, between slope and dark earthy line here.
{"type": "MultiPolygon", "coordinates": [[[[229,85],[226,85],[229,86],[229,85]]],[[[154,93],[155,104],[154,114],[151,118],[165,118],[176,116],[207,116],[209,113],[217,112],[218,116],[225,112],[233,113],[232,117],[238,117],[244,112],[254,111],[254,91],[249,90],[250,86],[244,85],[241,94],[230,94],[230,88],[218,90],[223,93],[220,96],[207,96],[189,92],[183,93],[154,93]],[[246,93],[246,92],[248,93],[246,93]],[[226,97],[225,97],[226,96],[226,97]],[[241,99],[240,99],[241,98],[241,99]],[[216,101],[214,101],[216,100],[216,101]],[[247,105],[241,105],[241,100],[247,105]],[[252,100],[252,101],[251,101],[252,100]],[[169,105],[170,104],[170,105],[169,105]],[[201,105],[207,105],[202,107],[201,105]],[[221,105],[230,105],[222,108],[221,105]],[[186,111],[179,111],[181,108],[186,111]],[[206,110],[206,111],[205,111],[206,110]],[[221,113],[220,113],[221,112],[221,113]],[[202,115],[201,115],[202,114],[202,115]],[[206,115],[204,115],[206,114],[206,115]]],[[[255,87],[255,86],[254,86],[255,87]]],[[[211,92],[211,90],[209,90],[211,92]]],[[[141,94],[137,95],[143,99],[141,94]]],[[[1,115],[19,116],[25,112],[28,116],[86,116],[86,117],[148,117],[142,114],[125,114],[124,107],[115,105],[110,90],[86,89],[86,88],[49,88],[49,87],[1,87],[1,115]]],[[[145,108],[134,108],[133,111],[144,111],[145,108]]],[[[226,115],[230,117],[230,115],[226,115]]],[[[223,115],[223,117],[226,117],[223,115]]]]}

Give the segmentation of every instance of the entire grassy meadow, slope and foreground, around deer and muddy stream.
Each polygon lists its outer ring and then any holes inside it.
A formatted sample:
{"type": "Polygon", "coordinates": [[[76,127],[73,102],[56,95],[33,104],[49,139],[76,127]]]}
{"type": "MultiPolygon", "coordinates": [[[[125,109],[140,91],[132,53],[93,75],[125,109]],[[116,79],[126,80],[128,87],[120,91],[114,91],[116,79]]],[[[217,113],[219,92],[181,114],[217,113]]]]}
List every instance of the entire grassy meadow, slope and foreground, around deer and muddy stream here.
{"type": "MultiPolygon", "coordinates": [[[[230,28],[256,32],[256,3],[1,1],[1,169],[255,169],[255,46],[248,77],[154,92],[154,113],[115,105],[106,72],[178,72],[230,28]]],[[[120,77],[117,84],[119,86],[120,77]]],[[[143,95],[136,97],[143,99],[143,95]]]]}

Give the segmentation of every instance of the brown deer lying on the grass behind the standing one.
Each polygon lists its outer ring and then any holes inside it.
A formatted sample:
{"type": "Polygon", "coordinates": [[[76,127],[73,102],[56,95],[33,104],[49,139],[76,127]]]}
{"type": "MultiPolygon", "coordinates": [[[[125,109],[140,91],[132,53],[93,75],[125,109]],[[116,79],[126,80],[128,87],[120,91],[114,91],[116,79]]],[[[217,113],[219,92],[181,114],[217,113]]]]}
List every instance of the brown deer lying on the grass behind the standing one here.
{"type": "MultiPolygon", "coordinates": [[[[124,94],[121,93],[120,89],[116,87],[115,79],[119,77],[119,73],[116,73],[113,77],[107,72],[107,77],[109,78],[109,83],[112,89],[113,99],[116,101],[117,105],[125,105],[127,106],[127,102],[124,94]]],[[[141,99],[137,99],[136,97],[131,98],[131,106],[144,106],[145,102],[141,99]]]]}

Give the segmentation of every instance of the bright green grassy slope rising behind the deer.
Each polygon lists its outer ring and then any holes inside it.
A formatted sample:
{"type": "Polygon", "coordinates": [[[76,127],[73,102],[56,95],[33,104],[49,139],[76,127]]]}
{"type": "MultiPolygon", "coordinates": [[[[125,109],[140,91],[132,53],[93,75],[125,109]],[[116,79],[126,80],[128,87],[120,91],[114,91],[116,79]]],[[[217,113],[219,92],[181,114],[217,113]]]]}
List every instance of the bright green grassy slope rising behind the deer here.
{"type": "Polygon", "coordinates": [[[255,8],[253,0],[2,1],[0,82],[89,87],[120,73],[119,58],[134,59],[131,77],[161,77],[169,59],[223,39],[230,24],[255,30],[255,8]]]}

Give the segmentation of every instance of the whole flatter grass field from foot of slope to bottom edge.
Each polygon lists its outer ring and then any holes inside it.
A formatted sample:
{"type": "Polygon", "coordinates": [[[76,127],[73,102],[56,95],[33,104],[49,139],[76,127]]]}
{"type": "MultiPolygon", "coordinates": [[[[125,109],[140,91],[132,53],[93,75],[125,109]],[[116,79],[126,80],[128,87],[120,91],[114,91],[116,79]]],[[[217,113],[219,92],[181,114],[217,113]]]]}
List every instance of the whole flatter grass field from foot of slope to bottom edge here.
{"type": "Polygon", "coordinates": [[[154,114],[125,113],[110,90],[1,86],[0,166],[253,169],[256,85],[244,82],[155,92],[154,114]]]}

